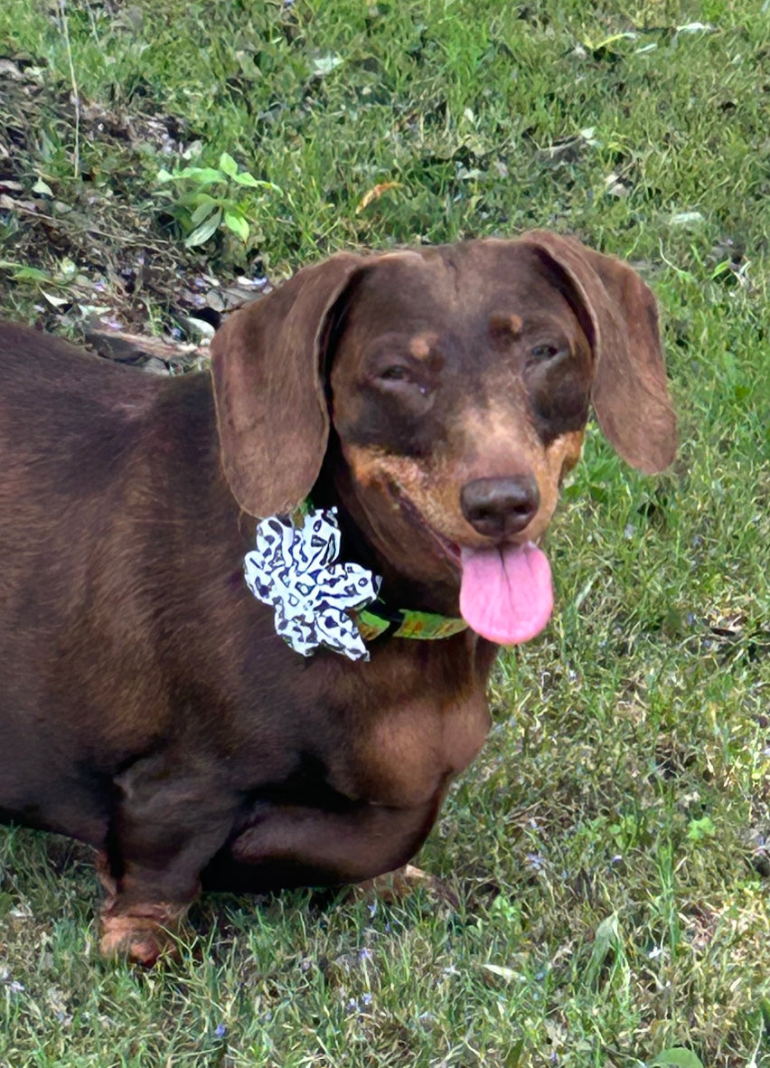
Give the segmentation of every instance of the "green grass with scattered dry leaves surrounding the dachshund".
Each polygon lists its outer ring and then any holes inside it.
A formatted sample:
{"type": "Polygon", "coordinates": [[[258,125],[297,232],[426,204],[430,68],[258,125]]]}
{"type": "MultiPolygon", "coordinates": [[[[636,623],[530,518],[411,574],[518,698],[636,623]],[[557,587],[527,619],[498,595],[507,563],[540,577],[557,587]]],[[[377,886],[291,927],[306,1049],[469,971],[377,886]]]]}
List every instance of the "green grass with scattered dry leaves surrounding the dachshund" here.
{"type": "Polygon", "coordinates": [[[142,974],[94,952],[87,851],[2,830],[3,1068],[770,1065],[767,9],[2,5],[6,313],[78,335],[106,301],[162,330],[177,270],[547,225],[655,287],[681,430],[657,480],[588,436],[554,621],[502,659],[421,854],[457,910],[210,896],[142,974]],[[188,250],[158,173],[222,153],[278,191],[246,242],[188,250]],[[156,282],[128,286],[139,256],[156,282]]]}

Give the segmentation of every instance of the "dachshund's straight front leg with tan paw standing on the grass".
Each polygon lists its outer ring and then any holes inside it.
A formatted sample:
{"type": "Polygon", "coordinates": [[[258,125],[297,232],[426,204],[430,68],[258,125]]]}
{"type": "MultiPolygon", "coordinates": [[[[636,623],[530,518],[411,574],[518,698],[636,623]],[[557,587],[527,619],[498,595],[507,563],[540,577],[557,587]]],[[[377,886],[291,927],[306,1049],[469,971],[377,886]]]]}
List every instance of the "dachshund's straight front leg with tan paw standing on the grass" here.
{"type": "Polygon", "coordinates": [[[116,783],[121,800],[99,863],[105,956],[150,967],[200,891],[202,868],[224,844],[236,799],[221,783],[135,766],[116,783]]]}

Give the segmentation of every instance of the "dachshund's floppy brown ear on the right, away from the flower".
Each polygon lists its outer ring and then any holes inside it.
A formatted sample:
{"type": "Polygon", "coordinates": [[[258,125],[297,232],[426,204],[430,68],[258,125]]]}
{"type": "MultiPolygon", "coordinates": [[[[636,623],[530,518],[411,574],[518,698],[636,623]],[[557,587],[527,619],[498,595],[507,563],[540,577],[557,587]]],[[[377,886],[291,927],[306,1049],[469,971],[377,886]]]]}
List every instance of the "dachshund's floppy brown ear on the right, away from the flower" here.
{"type": "Polygon", "coordinates": [[[662,471],[676,453],[676,418],[651,290],[627,264],[573,238],[533,231],[523,240],[561,269],[582,305],[576,312],[594,347],[592,402],[604,437],[638,470],[662,471]]]}

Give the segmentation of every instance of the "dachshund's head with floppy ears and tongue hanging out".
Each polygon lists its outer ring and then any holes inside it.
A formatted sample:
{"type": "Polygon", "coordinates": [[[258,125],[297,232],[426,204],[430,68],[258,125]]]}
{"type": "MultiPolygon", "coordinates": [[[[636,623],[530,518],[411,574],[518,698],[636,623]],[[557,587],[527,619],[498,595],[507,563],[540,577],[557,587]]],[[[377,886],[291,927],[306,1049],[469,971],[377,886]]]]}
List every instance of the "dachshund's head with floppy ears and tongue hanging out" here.
{"type": "Polygon", "coordinates": [[[675,420],[654,297],[622,262],[547,232],[305,268],[213,345],[222,464],[253,516],[312,490],[330,431],[345,504],[381,559],[459,590],[510,643],[551,609],[536,543],[593,404],[633,467],[675,420]]]}

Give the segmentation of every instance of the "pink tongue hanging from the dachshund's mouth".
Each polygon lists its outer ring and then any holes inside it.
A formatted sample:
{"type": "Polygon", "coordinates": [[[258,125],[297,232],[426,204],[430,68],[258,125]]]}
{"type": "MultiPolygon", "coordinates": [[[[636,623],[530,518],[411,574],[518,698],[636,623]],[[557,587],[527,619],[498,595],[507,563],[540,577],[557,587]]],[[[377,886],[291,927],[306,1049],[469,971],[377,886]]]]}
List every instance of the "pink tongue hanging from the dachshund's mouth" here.
{"type": "Polygon", "coordinates": [[[529,541],[503,549],[462,549],[460,612],[482,638],[517,645],[539,634],[553,609],[551,568],[529,541]]]}

